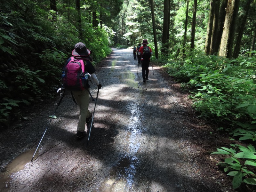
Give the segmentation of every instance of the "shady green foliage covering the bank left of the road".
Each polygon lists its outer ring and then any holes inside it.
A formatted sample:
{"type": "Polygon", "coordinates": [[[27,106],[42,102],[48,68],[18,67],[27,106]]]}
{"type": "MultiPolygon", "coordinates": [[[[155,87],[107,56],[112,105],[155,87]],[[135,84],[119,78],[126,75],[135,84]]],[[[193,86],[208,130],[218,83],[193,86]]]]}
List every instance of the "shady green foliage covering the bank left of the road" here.
{"type": "MultiPolygon", "coordinates": [[[[103,2],[101,7],[89,1],[84,8],[100,7],[97,16],[102,14],[110,22],[121,5],[120,0],[103,2]],[[114,12],[108,8],[114,8],[114,12]]],[[[81,31],[75,2],[57,2],[57,12],[44,0],[3,2],[0,9],[0,126],[19,119],[24,106],[52,97],[76,43],[83,42],[91,50],[94,65],[111,51],[115,33],[104,25],[92,28],[88,20],[91,8],[81,9],[81,31]]]]}

